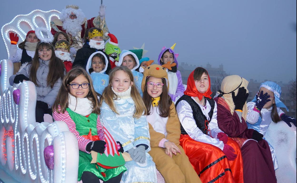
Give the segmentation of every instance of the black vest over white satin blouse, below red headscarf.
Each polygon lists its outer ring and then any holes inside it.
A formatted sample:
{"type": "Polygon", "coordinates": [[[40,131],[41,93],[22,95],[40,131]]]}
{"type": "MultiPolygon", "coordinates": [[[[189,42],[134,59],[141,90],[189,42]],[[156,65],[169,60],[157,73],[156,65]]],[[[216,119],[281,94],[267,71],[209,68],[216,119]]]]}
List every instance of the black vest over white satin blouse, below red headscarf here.
{"type": "MultiPolygon", "coordinates": [[[[206,100],[209,102],[210,106],[211,106],[211,110],[210,112],[208,113],[208,116],[209,116],[209,121],[211,120],[212,118],[212,114],[214,113],[214,105],[215,105],[215,101],[213,99],[210,99],[210,98],[207,98],[205,97],[206,100]]],[[[205,120],[206,119],[206,116],[204,116],[204,114],[202,113],[199,105],[188,95],[183,95],[181,96],[181,98],[178,99],[178,101],[176,102],[175,106],[177,106],[177,104],[182,101],[182,100],[185,100],[192,108],[192,111],[193,111],[193,117],[194,117],[194,120],[196,122],[196,125],[197,127],[204,133],[206,134],[207,132],[207,129],[205,128],[205,120]]],[[[208,125],[208,122],[206,122],[206,125],[208,125]]],[[[188,134],[183,126],[181,125],[181,134],[188,134]]]]}

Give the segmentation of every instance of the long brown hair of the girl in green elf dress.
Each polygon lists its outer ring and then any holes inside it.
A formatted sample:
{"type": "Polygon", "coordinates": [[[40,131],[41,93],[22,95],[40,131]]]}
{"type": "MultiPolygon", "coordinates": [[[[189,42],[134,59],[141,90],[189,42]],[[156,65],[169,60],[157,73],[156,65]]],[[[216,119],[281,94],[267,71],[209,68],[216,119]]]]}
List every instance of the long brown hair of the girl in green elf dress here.
{"type": "MultiPolygon", "coordinates": [[[[87,71],[83,69],[82,67],[75,67],[71,69],[66,76],[63,79],[62,85],[60,87],[58,96],[56,98],[55,103],[53,104],[53,110],[56,110],[58,113],[64,113],[66,108],[68,107],[68,94],[70,94],[69,90],[69,83],[72,82],[75,78],[77,78],[79,75],[83,75],[86,79],[88,79],[89,85],[89,93],[86,96],[93,105],[93,113],[100,114],[100,99],[98,99],[97,96],[101,98],[101,95],[97,92],[95,92],[93,87],[93,81],[87,71]],[[61,107],[61,110],[59,110],[59,105],[61,107]]],[[[70,94],[71,95],[71,94],[70,94]]]]}

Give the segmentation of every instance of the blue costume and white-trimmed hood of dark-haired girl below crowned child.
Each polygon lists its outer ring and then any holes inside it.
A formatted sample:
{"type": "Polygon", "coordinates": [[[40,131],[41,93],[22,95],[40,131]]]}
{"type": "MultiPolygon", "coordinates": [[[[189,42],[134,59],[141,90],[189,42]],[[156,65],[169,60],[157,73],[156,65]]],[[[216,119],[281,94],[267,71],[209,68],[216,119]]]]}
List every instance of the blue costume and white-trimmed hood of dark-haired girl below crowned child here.
{"type": "Polygon", "coordinates": [[[88,71],[88,73],[90,74],[90,76],[93,80],[94,90],[101,95],[102,95],[104,88],[107,87],[107,85],[108,85],[109,76],[107,74],[104,74],[105,71],[107,70],[107,66],[108,66],[108,59],[106,58],[105,54],[101,51],[92,53],[92,55],[89,57],[87,65],[86,65],[86,70],[88,71]],[[89,69],[92,68],[92,58],[97,53],[104,56],[105,68],[103,68],[103,70],[100,72],[89,73],[89,69]]]}

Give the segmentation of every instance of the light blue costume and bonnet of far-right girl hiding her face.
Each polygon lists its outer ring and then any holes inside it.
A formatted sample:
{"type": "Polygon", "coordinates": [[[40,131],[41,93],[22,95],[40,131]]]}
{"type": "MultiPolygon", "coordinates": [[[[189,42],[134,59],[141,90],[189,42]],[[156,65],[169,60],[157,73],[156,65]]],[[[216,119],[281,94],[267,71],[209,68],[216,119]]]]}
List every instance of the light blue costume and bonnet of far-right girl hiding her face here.
{"type": "MultiPolygon", "coordinates": [[[[271,82],[271,81],[266,81],[266,82],[261,83],[260,87],[265,87],[266,89],[268,89],[274,93],[274,100],[275,100],[275,104],[277,106],[277,113],[279,116],[282,113],[284,113],[280,109],[280,107],[284,107],[287,109],[287,111],[289,111],[289,109],[285,106],[285,104],[282,101],[280,101],[280,95],[282,93],[282,89],[278,84],[271,82]]],[[[254,106],[255,106],[255,102],[256,102],[256,96],[254,97],[254,99],[251,102],[247,103],[247,108],[248,108],[247,127],[257,130],[259,133],[263,134],[264,139],[265,139],[266,131],[267,131],[270,123],[272,122],[272,119],[271,119],[272,107],[270,109],[263,108],[260,111],[260,114],[261,114],[260,115],[258,112],[253,110],[254,106]]],[[[269,142],[268,142],[268,144],[269,144],[269,142]]],[[[270,147],[270,151],[271,151],[271,155],[272,155],[274,169],[276,170],[278,168],[277,157],[275,155],[274,148],[272,147],[271,144],[269,144],[269,147],[270,147]]]]}

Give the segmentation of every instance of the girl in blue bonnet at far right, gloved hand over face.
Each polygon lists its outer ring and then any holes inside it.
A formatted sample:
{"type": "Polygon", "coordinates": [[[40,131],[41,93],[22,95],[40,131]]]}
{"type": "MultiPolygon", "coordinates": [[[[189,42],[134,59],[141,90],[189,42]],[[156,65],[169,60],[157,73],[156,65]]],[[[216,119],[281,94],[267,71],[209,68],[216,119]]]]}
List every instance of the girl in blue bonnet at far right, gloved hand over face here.
{"type": "MultiPolygon", "coordinates": [[[[280,95],[282,93],[281,87],[271,81],[261,83],[259,92],[255,98],[247,103],[247,126],[263,134],[265,137],[268,126],[271,122],[284,121],[292,126],[293,123],[296,126],[296,119],[287,116],[280,107],[284,107],[289,111],[282,101],[280,101],[280,95]]],[[[268,143],[269,144],[269,143],[268,143]]],[[[273,147],[269,144],[271,155],[274,163],[274,169],[278,168],[277,159],[274,153],[273,147]]]]}

